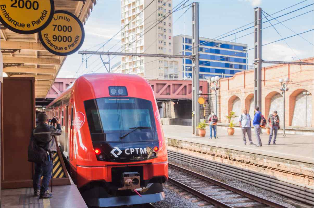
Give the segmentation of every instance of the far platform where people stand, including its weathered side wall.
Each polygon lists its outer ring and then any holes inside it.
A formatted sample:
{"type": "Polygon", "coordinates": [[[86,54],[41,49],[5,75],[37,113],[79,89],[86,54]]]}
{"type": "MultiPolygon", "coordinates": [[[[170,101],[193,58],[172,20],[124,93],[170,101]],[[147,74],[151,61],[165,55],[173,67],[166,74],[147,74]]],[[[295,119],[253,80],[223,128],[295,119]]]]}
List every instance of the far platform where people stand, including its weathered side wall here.
{"type": "MultiPolygon", "coordinates": [[[[163,125],[167,148],[173,152],[225,163],[251,171],[265,173],[282,180],[313,186],[313,136],[277,135],[276,145],[268,145],[269,135],[262,130],[262,147],[246,146],[240,129],[229,136],[226,128],[218,127],[218,139],[209,139],[209,127],[205,137],[192,135],[191,126],[163,125]]],[[[214,132],[213,132],[214,133],[214,132]]],[[[254,131],[252,141],[256,143],[254,131]]]]}

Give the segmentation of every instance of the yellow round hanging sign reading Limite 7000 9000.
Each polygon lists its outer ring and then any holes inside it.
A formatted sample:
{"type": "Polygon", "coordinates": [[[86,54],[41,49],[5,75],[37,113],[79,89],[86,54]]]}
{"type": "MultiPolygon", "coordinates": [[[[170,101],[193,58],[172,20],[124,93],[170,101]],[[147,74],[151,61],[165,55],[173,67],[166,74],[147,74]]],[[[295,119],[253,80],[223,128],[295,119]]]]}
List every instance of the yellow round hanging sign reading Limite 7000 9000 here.
{"type": "Polygon", "coordinates": [[[51,53],[67,56],[76,52],[85,37],[82,22],[72,13],[55,11],[50,24],[39,32],[41,44],[51,53]]]}

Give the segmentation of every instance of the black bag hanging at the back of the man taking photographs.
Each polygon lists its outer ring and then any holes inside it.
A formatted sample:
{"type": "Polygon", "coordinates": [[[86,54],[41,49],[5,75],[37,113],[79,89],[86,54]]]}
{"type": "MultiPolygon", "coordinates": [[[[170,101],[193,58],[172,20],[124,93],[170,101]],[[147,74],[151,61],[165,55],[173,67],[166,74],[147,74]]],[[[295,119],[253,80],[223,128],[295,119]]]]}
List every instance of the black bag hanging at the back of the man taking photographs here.
{"type": "Polygon", "coordinates": [[[30,137],[30,144],[28,146],[27,153],[27,161],[33,163],[44,163],[47,160],[48,156],[47,151],[37,144],[34,137],[30,137]]]}

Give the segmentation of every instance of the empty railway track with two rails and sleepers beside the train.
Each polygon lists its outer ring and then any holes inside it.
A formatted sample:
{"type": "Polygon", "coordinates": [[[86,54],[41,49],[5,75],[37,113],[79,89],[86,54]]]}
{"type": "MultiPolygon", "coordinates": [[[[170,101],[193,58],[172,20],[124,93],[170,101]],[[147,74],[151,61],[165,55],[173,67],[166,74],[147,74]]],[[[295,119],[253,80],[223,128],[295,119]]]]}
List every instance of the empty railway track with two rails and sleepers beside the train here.
{"type": "Polygon", "coordinates": [[[167,186],[191,198],[192,202],[199,202],[199,206],[285,207],[177,165],[169,163],[168,168],[171,177],[167,186]]]}

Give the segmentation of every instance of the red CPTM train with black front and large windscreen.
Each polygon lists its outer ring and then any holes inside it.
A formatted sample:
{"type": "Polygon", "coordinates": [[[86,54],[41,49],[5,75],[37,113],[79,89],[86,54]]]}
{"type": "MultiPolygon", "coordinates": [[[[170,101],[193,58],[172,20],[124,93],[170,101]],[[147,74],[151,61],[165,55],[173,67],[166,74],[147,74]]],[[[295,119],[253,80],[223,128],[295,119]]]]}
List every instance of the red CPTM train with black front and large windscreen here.
{"type": "Polygon", "coordinates": [[[145,79],[85,74],[51,102],[46,113],[61,118],[58,142],[89,206],[164,199],[167,150],[154,92],[145,79]]]}

